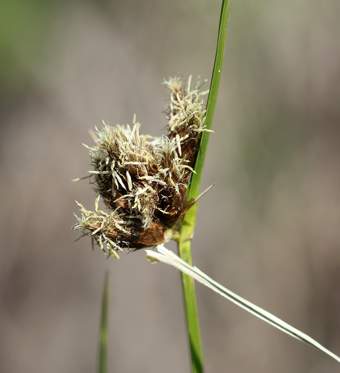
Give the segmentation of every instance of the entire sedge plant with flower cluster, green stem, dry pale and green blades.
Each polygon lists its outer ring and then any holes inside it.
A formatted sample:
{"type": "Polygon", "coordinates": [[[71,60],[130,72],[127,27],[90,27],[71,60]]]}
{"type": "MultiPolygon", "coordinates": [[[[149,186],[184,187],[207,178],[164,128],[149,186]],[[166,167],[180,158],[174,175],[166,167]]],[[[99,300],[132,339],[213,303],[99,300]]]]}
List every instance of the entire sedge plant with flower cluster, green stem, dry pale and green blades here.
{"type": "MultiPolygon", "coordinates": [[[[136,117],[132,127],[107,126],[103,122],[101,130],[96,128],[96,146],[85,145],[94,166],[94,170],[89,171],[91,175],[85,177],[92,177],[97,192],[94,211],[86,210],[77,202],[81,216],[77,216],[78,222],[73,228],[82,231],[82,236],[91,236],[92,249],[98,244],[108,256],[117,259],[123,248],[137,250],[157,246],[157,251],[146,250],[147,258],[181,271],[193,373],[204,372],[194,280],[340,362],[337,355],[305,333],[239,297],[192,266],[191,239],[198,207],[196,202],[206,192],[199,194],[199,188],[220,83],[228,15],[229,0],[223,0],[206,110],[201,96],[207,92],[201,90],[200,79],[192,83],[191,76],[186,82],[175,77],[164,81],[170,100],[166,107],[167,133],[161,138],[139,134],[136,117]],[[99,209],[100,199],[107,211],[99,209]],[[177,242],[179,256],[164,247],[170,239],[177,242]]],[[[105,284],[99,372],[106,372],[107,278],[105,284]]]]}

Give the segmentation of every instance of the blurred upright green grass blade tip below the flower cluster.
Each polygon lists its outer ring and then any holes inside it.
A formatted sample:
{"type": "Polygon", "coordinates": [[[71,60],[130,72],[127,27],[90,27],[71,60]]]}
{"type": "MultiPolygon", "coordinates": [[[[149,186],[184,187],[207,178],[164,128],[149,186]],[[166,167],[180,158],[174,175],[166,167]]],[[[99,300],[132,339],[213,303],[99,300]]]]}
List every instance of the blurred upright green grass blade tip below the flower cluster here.
{"type": "Polygon", "coordinates": [[[108,340],[108,272],[105,273],[103,299],[101,303],[101,322],[98,351],[98,373],[107,372],[107,340],[108,340]]]}

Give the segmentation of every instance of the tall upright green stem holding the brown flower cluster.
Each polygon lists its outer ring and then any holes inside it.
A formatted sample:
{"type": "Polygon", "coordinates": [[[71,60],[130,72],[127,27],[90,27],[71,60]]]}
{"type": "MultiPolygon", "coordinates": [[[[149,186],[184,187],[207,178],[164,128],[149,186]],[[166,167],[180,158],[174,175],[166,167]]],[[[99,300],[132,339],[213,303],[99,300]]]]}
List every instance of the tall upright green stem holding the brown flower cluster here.
{"type": "MultiPolygon", "coordinates": [[[[207,102],[207,112],[205,116],[205,125],[207,129],[211,129],[213,117],[216,107],[218,87],[220,85],[220,76],[223,65],[224,46],[226,43],[226,32],[229,15],[230,0],[223,0],[221,7],[220,26],[218,29],[217,48],[215,55],[215,63],[213,75],[211,77],[210,90],[207,102]]],[[[192,175],[191,183],[188,187],[187,198],[196,198],[199,195],[199,187],[201,185],[202,171],[207,154],[210,132],[203,132],[197,159],[195,163],[195,172],[192,175]]],[[[196,213],[198,203],[195,203],[184,216],[183,223],[180,229],[180,236],[177,241],[178,252],[180,258],[187,263],[191,263],[191,239],[195,230],[196,213]]],[[[184,273],[182,276],[183,297],[185,305],[186,326],[188,330],[188,339],[191,353],[191,366],[193,373],[203,373],[203,353],[201,345],[201,333],[199,329],[198,310],[196,302],[196,292],[194,280],[184,273]]]]}

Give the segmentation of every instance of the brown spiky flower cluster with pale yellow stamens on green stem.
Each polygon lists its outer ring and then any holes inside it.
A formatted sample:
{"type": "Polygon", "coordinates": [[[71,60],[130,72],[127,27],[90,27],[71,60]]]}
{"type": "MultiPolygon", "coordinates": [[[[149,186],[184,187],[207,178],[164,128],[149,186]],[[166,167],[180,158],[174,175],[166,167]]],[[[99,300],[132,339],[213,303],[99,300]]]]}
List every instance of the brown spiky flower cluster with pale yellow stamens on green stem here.
{"type": "Polygon", "coordinates": [[[195,164],[199,138],[204,126],[204,104],[198,78],[186,86],[180,78],[164,81],[170,90],[166,108],[167,135],[161,138],[139,134],[139,123],[132,128],[97,128],[97,146],[91,155],[95,211],[80,203],[81,216],[73,228],[92,236],[105,251],[119,258],[123,247],[151,247],[173,238],[177,223],[191,204],[186,188],[195,164]],[[98,209],[102,199],[108,213],[98,209]]]}

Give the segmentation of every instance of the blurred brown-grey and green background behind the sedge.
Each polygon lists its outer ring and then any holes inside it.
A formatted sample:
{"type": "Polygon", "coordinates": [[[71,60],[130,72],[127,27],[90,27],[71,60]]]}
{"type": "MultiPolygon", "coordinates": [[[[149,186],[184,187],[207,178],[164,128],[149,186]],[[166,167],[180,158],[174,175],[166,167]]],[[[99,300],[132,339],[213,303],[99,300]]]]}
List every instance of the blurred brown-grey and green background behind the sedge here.
{"type": "MultiPolygon", "coordinates": [[[[94,372],[110,272],[109,372],[189,372],[179,273],[72,241],[92,209],[88,129],[161,135],[167,76],[209,79],[220,0],[3,0],[1,372],[94,372]]],[[[193,262],[340,354],[340,2],[230,5],[193,262]]],[[[168,248],[175,250],[172,243],[168,248]]],[[[197,285],[206,372],[339,363],[197,285]]]]}

